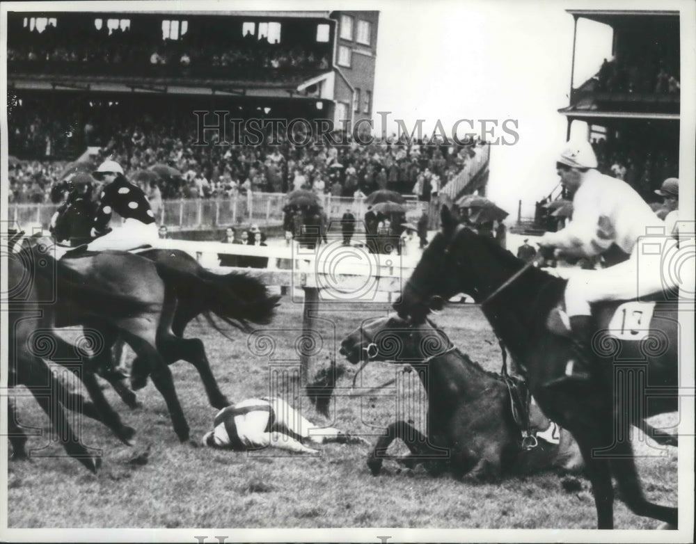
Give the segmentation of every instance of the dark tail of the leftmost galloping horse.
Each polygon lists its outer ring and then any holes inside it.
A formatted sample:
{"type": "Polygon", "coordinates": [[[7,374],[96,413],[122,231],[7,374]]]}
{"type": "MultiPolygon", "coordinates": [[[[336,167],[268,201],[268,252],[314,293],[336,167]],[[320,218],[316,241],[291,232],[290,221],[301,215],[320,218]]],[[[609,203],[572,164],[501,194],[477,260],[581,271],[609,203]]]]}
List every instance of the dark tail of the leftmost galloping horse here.
{"type": "Polygon", "coordinates": [[[34,278],[43,280],[48,296],[55,294],[63,301],[79,306],[83,312],[108,315],[114,319],[152,310],[152,303],[89,285],[88,278],[50,255],[41,258],[45,259],[45,265],[37,263],[26,266],[26,269],[33,272],[34,278]],[[55,289],[54,293],[49,292],[52,289],[55,289]]]}

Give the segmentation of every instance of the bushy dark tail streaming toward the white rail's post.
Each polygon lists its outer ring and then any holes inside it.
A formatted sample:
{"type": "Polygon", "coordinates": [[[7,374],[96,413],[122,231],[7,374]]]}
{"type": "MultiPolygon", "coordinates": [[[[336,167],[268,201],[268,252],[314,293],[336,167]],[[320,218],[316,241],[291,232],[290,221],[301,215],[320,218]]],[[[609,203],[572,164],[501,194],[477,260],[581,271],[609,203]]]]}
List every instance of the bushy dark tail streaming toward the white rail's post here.
{"type": "Polygon", "coordinates": [[[273,308],[280,297],[248,301],[230,289],[224,276],[207,272],[183,271],[161,262],[155,262],[157,273],[173,287],[182,305],[187,301],[202,309],[202,313],[213,312],[220,319],[237,328],[246,328],[246,322],[267,324],[273,317],[273,308]]]}

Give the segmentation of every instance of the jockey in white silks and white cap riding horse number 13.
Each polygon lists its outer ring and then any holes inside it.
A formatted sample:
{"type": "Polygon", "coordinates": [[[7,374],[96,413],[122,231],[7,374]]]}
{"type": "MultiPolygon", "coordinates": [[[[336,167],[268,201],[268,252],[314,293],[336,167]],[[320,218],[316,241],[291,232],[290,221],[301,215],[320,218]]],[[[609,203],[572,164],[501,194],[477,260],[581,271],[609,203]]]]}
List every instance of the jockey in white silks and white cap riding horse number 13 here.
{"type": "MultiPolygon", "coordinates": [[[[616,244],[630,255],[622,263],[598,271],[574,271],[565,291],[565,306],[575,339],[590,343],[596,328],[590,305],[623,301],[679,289],[677,277],[661,266],[644,266],[640,237],[662,234],[669,238],[662,221],[630,185],[596,170],[597,159],[590,143],[569,143],[556,163],[564,188],[573,195],[573,218],[559,232],[547,232],[539,240],[542,250],[555,248],[574,257],[594,257],[616,244]],[[640,273],[640,276],[639,276],[640,273]]],[[[663,238],[663,239],[665,239],[663,238]]],[[[663,253],[668,248],[663,248],[663,253]]]]}

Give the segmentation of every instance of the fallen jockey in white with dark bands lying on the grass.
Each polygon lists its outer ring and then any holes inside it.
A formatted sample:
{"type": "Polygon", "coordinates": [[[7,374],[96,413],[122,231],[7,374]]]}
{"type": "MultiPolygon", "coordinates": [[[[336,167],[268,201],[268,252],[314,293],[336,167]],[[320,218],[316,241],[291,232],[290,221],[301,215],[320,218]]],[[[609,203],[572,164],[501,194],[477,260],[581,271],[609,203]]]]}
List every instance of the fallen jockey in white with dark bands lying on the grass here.
{"type": "Polygon", "coordinates": [[[205,433],[204,446],[246,451],[264,447],[317,454],[301,440],[315,444],[345,442],[348,436],[333,427],[319,427],[277,397],[246,399],[220,410],[213,430],[205,433]]]}

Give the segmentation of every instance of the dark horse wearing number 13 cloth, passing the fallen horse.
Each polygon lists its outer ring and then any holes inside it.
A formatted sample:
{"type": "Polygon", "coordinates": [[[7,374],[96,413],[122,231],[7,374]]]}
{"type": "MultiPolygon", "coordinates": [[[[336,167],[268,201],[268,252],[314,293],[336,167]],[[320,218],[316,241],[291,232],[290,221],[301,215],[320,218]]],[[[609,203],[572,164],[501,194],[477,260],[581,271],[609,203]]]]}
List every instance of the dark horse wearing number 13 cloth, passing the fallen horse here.
{"type": "MultiPolygon", "coordinates": [[[[614,523],[612,475],[631,511],[676,526],[676,508],[644,498],[627,440],[631,424],[642,426],[638,419],[678,409],[676,304],[662,305],[650,324],[651,330],[658,329],[658,339],[664,336],[664,342],[654,342],[655,337],[624,342],[598,333],[592,342],[594,353],[583,354],[592,362],[592,380],[573,380],[566,371],[578,358],[576,349],[568,338],[546,328],[549,312],[564,293],[565,280],[529,267],[512,285],[505,285],[524,263],[493,241],[457,225],[447,207],[442,209],[441,220],[442,231],[424,251],[402,298],[394,305],[400,316],[422,322],[433,296],[446,299],[459,292],[473,296],[527,372],[541,409],[571,431],[580,445],[592,481],[599,528],[611,529],[614,523]],[[637,379],[622,383],[626,378],[637,379]],[[647,402],[650,392],[658,394],[647,402]],[[631,403],[640,405],[642,413],[631,409],[631,403]]],[[[617,305],[597,305],[598,330],[608,328],[617,305]]]]}

